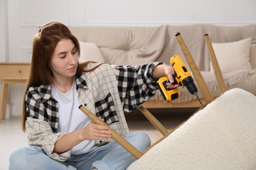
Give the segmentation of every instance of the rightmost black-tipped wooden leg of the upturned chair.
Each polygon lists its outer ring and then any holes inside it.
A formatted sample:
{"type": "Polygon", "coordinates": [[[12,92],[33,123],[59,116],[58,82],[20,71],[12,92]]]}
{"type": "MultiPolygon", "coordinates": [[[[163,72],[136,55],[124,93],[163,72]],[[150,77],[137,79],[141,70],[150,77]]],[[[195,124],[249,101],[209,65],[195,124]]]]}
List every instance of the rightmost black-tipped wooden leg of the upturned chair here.
{"type": "Polygon", "coordinates": [[[215,52],[213,50],[213,46],[211,44],[211,40],[209,38],[208,34],[205,34],[205,41],[208,47],[208,53],[209,53],[209,57],[211,59],[211,64],[213,65],[213,71],[214,71],[214,75],[215,78],[217,80],[217,84],[220,88],[221,93],[226,92],[227,88],[226,88],[226,84],[223,78],[223,74],[221,73],[221,68],[219,67],[219,63],[217,61],[217,58],[215,56],[215,52]]]}

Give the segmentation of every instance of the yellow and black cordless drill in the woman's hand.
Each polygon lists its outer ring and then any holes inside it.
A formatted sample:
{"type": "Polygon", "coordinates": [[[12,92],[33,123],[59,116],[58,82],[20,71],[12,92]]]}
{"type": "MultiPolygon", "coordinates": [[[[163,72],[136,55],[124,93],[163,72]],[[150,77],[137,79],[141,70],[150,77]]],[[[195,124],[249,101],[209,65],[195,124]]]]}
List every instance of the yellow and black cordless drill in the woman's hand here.
{"type": "MultiPolygon", "coordinates": [[[[170,59],[170,63],[175,72],[173,75],[173,84],[185,86],[188,92],[190,92],[192,95],[196,95],[196,97],[198,98],[198,88],[196,88],[196,84],[194,83],[190,71],[188,71],[182,59],[178,55],[175,55],[170,59]]],[[[167,76],[163,76],[157,81],[158,88],[163,95],[163,99],[165,99],[165,101],[171,101],[173,99],[179,98],[181,93],[179,92],[178,88],[169,89],[167,88],[167,83],[169,83],[167,76]]],[[[198,101],[200,101],[199,98],[198,101]]]]}

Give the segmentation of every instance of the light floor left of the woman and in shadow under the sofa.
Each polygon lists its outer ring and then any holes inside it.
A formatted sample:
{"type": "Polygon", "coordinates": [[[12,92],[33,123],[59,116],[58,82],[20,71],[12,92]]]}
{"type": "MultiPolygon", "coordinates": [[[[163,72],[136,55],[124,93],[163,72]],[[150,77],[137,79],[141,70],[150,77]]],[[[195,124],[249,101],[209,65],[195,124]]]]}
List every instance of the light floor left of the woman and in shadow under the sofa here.
{"type": "MultiPolygon", "coordinates": [[[[167,129],[172,129],[186,120],[195,109],[186,110],[150,110],[167,129]]],[[[150,135],[152,143],[162,137],[139,111],[126,115],[131,131],[144,130],[150,135]]],[[[12,116],[9,120],[2,120],[0,124],[0,169],[8,169],[11,150],[17,146],[26,145],[26,135],[22,132],[21,117],[12,116]]]]}

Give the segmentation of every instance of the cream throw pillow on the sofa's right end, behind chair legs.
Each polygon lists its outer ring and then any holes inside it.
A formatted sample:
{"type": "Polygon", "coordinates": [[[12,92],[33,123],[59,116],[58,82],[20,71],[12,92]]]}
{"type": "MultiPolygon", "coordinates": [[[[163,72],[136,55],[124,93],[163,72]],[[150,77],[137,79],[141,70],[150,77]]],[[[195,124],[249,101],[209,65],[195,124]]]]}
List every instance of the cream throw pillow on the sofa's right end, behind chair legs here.
{"type": "MultiPolygon", "coordinates": [[[[222,73],[251,69],[249,61],[251,38],[235,42],[212,43],[212,45],[222,73]]],[[[210,71],[213,71],[212,64],[210,71]]]]}

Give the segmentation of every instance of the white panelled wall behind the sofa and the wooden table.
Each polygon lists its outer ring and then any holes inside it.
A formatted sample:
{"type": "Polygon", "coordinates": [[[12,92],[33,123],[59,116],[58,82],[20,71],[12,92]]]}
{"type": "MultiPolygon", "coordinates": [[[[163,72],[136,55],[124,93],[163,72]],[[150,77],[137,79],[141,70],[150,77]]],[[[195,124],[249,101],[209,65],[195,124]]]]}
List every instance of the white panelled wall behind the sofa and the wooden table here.
{"type": "MultiPolygon", "coordinates": [[[[255,0],[0,0],[0,5],[1,62],[30,62],[37,27],[53,20],[117,26],[256,24],[255,0]]],[[[11,114],[21,114],[23,88],[24,84],[11,85],[11,114]]]]}

